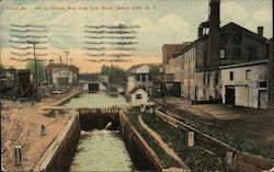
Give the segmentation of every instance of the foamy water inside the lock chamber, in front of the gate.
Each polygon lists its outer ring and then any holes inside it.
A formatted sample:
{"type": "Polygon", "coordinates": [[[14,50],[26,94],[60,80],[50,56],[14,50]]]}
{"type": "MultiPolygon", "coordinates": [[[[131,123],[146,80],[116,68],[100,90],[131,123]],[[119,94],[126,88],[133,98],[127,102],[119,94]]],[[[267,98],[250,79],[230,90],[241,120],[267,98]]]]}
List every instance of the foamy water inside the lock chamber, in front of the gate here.
{"type": "Polygon", "coordinates": [[[70,171],[133,171],[133,162],[119,134],[81,131],[70,171]]]}

